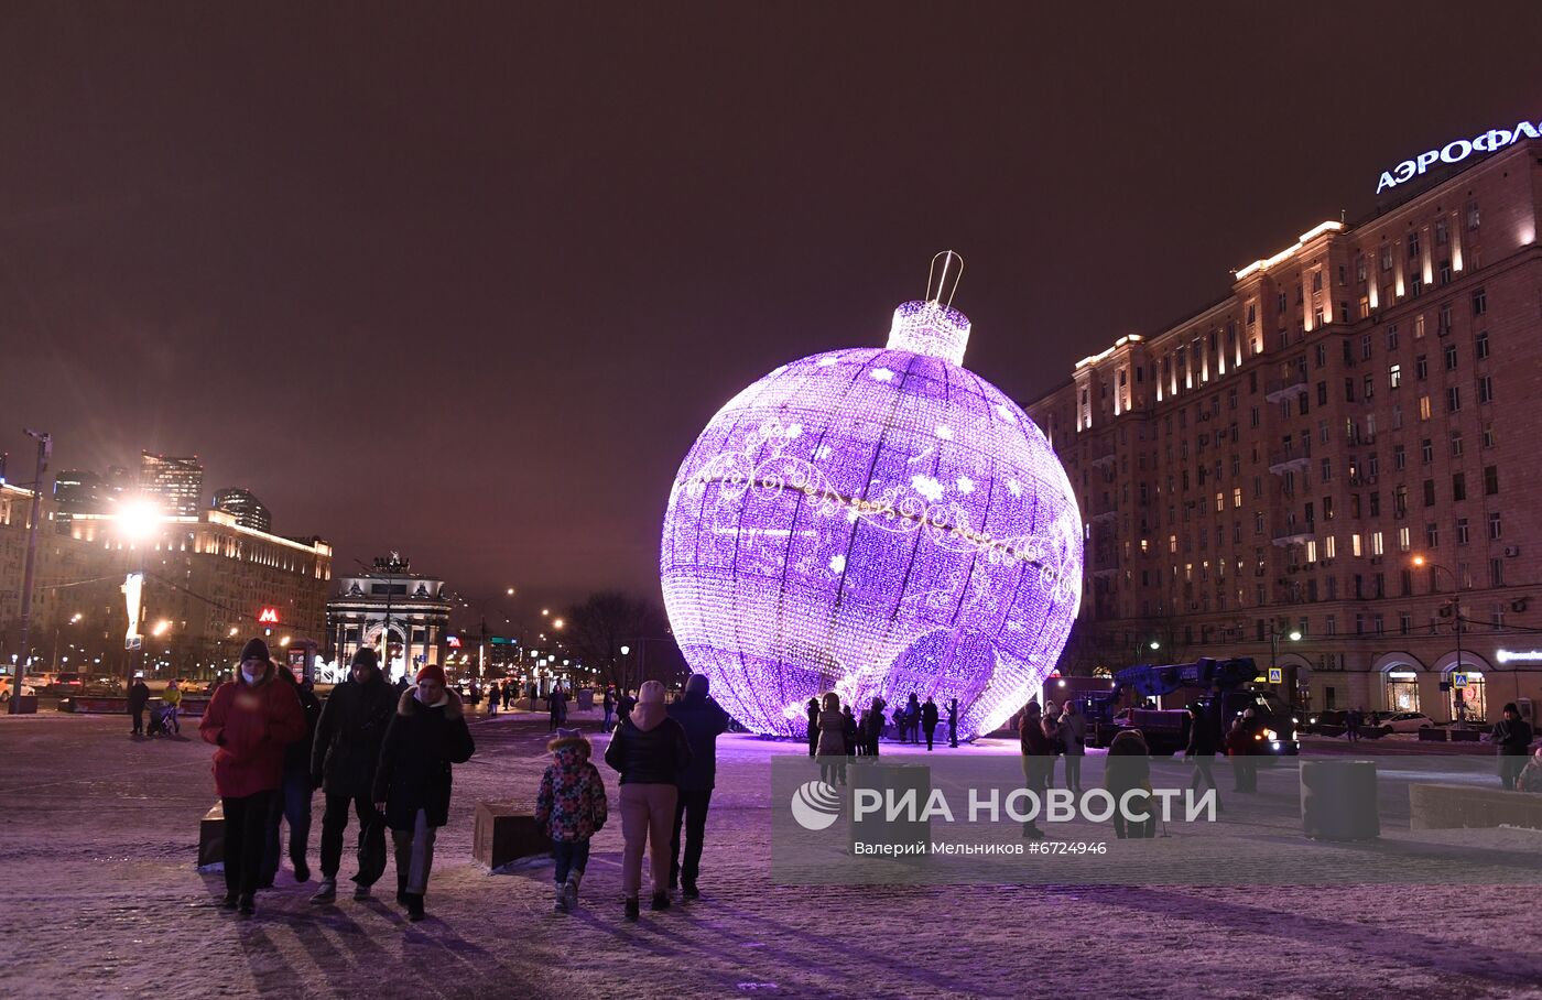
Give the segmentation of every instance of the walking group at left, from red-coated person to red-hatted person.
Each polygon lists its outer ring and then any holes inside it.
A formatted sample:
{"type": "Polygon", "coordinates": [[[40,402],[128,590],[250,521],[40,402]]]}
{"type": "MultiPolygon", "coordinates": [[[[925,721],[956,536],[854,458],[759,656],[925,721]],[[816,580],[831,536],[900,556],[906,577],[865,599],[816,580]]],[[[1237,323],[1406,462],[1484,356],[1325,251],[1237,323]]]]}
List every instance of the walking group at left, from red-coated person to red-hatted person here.
{"type": "Polygon", "coordinates": [[[449,820],[450,769],[475,746],[444,669],[423,667],[406,690],[386,683],[375,650],[353,656],[350,676],[325,707],[267,643],[241,650],[236,680],[221,684],[199,733],[214,744],[214,787],[224,823],[225,909],[253,914],[256,894],[279,869],[279,823],[288,823],[296,881],[310,880],[305,846],[311,797],[325,794],[321,886],[336,898],[348,810],[358,818],[355,898],[369,898],[386,871],[386,831],[396,849],[396,901],[424,918],[433,840],[449,820]]]}

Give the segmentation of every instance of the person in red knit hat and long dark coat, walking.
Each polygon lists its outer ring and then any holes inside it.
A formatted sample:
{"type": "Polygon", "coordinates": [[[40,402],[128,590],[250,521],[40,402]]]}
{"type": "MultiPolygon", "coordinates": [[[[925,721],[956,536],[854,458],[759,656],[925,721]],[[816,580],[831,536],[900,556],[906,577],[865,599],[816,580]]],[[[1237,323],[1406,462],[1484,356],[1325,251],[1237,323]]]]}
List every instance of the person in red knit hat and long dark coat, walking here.
{"type": "Polygon", "coordinates": [[[375,807],[396,843],[396,881],[409,920],[424,917],[433,840],[450,820],[450,766],[464,764],[475,750],[461,700],[446,684],[444,667],[430,663],[396,703],[375,769],[375,807]]]}

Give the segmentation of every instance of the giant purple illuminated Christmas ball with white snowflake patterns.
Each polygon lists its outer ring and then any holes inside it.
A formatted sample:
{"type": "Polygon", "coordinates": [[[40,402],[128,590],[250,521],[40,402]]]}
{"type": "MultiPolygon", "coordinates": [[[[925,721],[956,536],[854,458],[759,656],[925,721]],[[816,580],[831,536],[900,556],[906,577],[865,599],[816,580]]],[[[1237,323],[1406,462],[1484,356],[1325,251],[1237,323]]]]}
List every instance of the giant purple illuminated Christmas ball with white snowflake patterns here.
{"type": "Polygon", "coordinates": [[[674,636],[756,732],[803,735],[810,696],[916,692],[959,735],[1039,690],[1081,598],[1081,518],[1038,427],[962,368],[968,319],[931,299],[888,345],[814,354],[739,393],[669,492],[674,636]]]}

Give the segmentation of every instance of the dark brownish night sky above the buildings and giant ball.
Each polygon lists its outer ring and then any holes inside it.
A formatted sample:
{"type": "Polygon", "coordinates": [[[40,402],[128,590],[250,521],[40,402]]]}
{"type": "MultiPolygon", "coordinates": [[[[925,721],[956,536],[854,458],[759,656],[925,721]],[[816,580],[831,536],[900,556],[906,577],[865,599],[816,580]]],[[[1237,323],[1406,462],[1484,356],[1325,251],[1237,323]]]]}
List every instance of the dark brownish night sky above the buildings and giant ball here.
{"type": "Polygon", "coordinates": [[[880,345],[936,250],[968,367],[1032,399],[1542,117],[1539,37],[1534,2],[11,3],[0,450],[197,453],[339,569],[657,596],[697,431],[880,345]]]}

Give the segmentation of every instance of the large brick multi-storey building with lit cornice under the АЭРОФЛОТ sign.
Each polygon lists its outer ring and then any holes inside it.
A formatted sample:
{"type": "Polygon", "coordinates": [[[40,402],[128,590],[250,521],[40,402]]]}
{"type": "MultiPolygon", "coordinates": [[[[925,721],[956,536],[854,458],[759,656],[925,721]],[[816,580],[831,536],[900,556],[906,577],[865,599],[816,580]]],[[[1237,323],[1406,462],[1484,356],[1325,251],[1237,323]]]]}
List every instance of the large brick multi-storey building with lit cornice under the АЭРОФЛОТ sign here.
{"type": "Polygon", "coordinates": [[[1087,532],[1070,670],[1252,655],[1314,709],[1542,701],[1539,157],[1323,222],[1025,407],[1087,532]]]}

